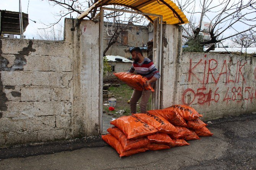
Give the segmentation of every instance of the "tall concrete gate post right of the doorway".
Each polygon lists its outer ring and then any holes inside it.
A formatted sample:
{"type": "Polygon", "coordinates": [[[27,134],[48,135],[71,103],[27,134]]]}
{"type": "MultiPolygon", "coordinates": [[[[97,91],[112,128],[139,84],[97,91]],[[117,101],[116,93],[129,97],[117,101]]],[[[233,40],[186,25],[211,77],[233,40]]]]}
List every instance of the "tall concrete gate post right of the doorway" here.
{"type": "Polygon", "coordinates": [[[181,27],[164,24],[162,41],[161,109],[175,104],[177,96],[179,58],[182,53],[181,27]]]}

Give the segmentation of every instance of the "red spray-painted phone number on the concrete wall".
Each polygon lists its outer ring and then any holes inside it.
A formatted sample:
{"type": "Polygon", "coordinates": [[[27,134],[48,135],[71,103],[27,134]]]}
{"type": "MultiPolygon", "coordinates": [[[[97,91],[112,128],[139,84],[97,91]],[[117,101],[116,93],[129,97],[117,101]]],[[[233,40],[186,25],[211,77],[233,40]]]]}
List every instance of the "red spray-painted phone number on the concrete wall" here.
{"type": "Polygon", "coordinates": [[[244,92],[241,87],[228,87],[227,92],[225,93],[225,96],[223,96],[224,98],[222,99],[220,99],[220,94],[218,93],[219,87],[215,91],[212,91],[210,88],[208,93],[206,90],[206,88],[198,88],[197,91],[195,92],[191,88],[186,89],[182,95],[183,104],[190,105],[194,102],[195,99],[197,99],[198,104],[208,104],[209,106],[211,104],[211,101],[215,103],[219,101],[226,101],[227,103],[228,101],[237,101],[238,103],[242,100],[252,102],[253,98],[256,98],[256,90],[253,87],[245,87],[244,92]],[[231,95],[228,92],[231,92],[231,95]],[[192,99],[190,102],[185,101],[185,96],[188,95],[190,95],[192,99]]]}

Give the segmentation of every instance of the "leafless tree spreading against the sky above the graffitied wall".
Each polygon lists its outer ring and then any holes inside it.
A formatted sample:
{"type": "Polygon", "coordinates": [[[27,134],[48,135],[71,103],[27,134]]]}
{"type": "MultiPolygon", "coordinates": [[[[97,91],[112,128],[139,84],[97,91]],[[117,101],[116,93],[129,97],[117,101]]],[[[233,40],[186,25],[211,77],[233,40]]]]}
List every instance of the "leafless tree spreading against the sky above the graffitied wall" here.
{"type": "Polygon", "coordinates": [[[202,45],[222,42],[249,30],[255,32],[256,0],[175,0],[180,9],[189,17],[189,24],[183,26],[183,37],[196,38],[200,32],[209,32],[209,40],[202,45]],[[198,8],[200,7],[200,8],[198,8]],[[198,23],[195,18],[199,18],[198,23]],[[212,27],[200,29],[203,21],[212,27]],[[242,26],[242,27],[241,27],[242,26]],[[221,35],[225,35],[220,38],[221,35]]]}

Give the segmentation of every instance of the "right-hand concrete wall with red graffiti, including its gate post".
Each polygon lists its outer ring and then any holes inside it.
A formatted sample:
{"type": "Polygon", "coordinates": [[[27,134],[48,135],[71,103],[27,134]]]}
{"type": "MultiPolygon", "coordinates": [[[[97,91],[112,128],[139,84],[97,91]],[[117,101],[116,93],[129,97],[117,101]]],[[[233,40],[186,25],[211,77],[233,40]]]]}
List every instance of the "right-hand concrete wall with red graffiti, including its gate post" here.
{"type": "Polygon", "coordinates": [[[256,58],[181,53],[180,32],[164,25],[160,107],[186,104],[202,120],[256,112],[256,58]]]}

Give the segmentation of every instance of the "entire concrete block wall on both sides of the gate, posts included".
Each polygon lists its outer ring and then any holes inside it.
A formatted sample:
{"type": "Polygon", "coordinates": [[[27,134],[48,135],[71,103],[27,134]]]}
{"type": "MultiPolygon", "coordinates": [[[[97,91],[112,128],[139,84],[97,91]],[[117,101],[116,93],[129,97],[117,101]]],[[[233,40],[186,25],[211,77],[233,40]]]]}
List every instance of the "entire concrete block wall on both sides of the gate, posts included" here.
{"type": "MultiPolygon", "coordinates": [[[[256,111],[256,59],[182,53],[164,25],[161,105],[217,119],[256,111]]],[[[0,38],[0,147],[98,135],[99,22],[65,19],[60,42],[0,38]]]]}

